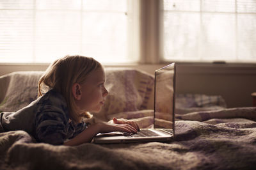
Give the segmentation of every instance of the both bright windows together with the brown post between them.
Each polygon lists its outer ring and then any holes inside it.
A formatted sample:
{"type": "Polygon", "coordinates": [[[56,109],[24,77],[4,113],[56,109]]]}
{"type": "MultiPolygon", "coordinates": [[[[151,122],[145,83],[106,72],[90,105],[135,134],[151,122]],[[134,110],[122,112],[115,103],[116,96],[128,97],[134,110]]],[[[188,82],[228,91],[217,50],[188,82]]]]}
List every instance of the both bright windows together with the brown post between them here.
{"type": "Polygon", "coordinates": [[[0,0],[0,63],[256,63],[255,27],[255,0],[0,0]]]}

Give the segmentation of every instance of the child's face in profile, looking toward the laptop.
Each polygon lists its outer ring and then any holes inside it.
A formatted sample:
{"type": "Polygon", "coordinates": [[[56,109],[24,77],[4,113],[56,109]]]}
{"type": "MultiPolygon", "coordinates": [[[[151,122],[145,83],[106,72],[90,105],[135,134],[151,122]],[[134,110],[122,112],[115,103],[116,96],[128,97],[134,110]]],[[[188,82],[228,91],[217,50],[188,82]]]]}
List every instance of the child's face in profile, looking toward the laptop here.
{"type": "Polygon", "coordinates": [[[108,95],[104,83],[105,72],[102,67],[90,73],[81,84],[81,100],[77,100],[77,107],[83,111],[99,112],[108,95]]]}

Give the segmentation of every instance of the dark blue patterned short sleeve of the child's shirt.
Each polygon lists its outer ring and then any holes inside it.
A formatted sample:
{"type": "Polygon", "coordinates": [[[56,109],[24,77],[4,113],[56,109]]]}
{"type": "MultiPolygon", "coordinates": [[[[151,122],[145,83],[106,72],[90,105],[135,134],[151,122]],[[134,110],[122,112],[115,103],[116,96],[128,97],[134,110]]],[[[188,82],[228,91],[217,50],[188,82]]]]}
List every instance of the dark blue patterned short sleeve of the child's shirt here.
{"type": "Polygon", "coordinates": [[[68,120],[58,108],[47,109],[36,114],[36,138],[39,142],[63,144],[68,131],[68,120]]]}

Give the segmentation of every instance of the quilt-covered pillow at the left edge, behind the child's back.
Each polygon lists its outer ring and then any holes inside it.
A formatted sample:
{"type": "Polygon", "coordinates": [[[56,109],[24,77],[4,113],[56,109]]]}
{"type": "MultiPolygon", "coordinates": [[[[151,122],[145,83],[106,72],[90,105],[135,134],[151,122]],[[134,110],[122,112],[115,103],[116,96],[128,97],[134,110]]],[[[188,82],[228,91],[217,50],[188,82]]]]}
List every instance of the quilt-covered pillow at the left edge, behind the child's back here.
{"type": "Polygon", "coordinates": [[[43,72],[13,72],[0,77],[0,111],[15,112],[37,97],[43,72]]]}

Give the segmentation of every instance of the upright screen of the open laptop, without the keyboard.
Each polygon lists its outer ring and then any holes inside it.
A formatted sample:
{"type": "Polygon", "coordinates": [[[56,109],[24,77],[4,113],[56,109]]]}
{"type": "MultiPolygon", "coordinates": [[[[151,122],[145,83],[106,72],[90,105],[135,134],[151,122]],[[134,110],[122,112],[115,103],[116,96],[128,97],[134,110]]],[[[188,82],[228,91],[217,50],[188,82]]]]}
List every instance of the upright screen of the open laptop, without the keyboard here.
{"type": "Polygon", "coordinates": [[[175,63],[155,71],[154,128],[174,131],[175,63]]]}

